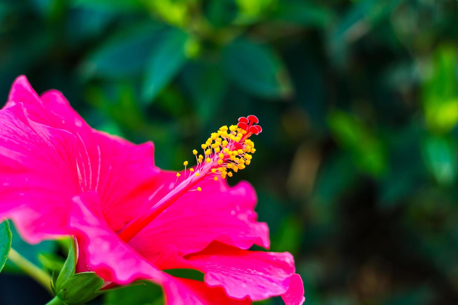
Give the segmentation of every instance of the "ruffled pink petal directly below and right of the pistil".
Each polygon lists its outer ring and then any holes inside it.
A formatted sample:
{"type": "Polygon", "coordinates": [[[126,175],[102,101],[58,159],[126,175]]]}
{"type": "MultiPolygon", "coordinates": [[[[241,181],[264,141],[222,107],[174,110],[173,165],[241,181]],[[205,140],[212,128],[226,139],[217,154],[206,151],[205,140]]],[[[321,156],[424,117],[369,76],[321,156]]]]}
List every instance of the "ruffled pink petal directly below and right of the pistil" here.
{"type": "MultiPolygon", "coordinates": [[[[159,188],[155,198],[169,192],[175,179],[175,172],[162,172],[158,177],[162,184],[154,186],[159,188]]],[[[215,240],[242,249],[255,243],[269,246],[268,227],[256,221],[256,193],[248,182],[229,187],[220,179],[202,181],[199,186],[202,192],[183,195],[129,244],[152,262],[170,245],[181,256],[201,251],[215,240]]]]}

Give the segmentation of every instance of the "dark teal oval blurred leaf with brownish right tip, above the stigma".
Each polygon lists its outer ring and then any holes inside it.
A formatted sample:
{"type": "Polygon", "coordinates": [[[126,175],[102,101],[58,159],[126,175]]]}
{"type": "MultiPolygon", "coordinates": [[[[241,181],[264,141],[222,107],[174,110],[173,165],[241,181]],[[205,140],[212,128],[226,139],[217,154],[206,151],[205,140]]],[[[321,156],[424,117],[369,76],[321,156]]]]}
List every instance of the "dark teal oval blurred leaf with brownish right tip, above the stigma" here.
{"type": "Polygon", "coordinates": [[[292,92],[284,64],[267,45],[236,39],[223,50],[223,67],[234,83],[256,96],[277,98],[292,92]]]}

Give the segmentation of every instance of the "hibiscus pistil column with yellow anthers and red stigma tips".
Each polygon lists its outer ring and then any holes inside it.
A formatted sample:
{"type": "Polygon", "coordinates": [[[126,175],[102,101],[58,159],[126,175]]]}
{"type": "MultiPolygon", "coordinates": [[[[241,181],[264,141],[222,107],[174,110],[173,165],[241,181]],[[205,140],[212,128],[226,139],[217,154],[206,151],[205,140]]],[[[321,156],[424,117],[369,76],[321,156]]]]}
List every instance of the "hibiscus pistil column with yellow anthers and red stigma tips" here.
{"type": "Polygon", "coordinates": [[[255,125],[258,122],[256,116],[249,115],[246,118],[239,118],[237,125],[231,125],[229,128],[223,126],[218,132],[212,133],[210,138],[201,145],[203,155],[197,156],[197,150],[192,151],[196,156],[197,166],[190,168],[188,173],[186,171],[188,161],[183,162],[185,171],[184,174],[176,174],[175,187],[146,213],[129,222],[120,231],[119,237],[125,242],[130,241],[183,194],[190,191],[205,192],[202,187],[191,189],[203,179],[217,181],[218,177],[225,179],[226,176],[232,177],[233,172],[243,170],[250,164],[251,154],[256,151],[253,141],[248,138],[262,132],[261,126],[255,125]]]}

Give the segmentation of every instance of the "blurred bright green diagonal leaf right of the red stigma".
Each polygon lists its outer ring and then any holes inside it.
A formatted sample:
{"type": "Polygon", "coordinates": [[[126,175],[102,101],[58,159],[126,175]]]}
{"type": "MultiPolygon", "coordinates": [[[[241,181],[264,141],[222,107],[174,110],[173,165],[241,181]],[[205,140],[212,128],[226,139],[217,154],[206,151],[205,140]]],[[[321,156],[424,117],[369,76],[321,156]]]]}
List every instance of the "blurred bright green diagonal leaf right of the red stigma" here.
{"type": "Polygon", "coordinates": [[[355,116],[334,111],[328,117],[333,137],[353,155],[354,162],[368,174],[379,176],[387,162],[382,143],[355,116]]]}

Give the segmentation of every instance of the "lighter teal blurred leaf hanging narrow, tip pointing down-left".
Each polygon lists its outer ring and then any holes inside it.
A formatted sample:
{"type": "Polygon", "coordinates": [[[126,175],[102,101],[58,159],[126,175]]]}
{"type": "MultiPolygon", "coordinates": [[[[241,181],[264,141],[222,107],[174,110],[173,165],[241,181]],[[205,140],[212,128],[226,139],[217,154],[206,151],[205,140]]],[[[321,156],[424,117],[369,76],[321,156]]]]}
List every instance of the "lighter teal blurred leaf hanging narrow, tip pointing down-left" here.
{"type": "Polygon", "coordinates": [[[186,62],[188,35],[172,29],[153,48],[146,67],[142,99],[150,103],[180,71],[186,62]]]}

